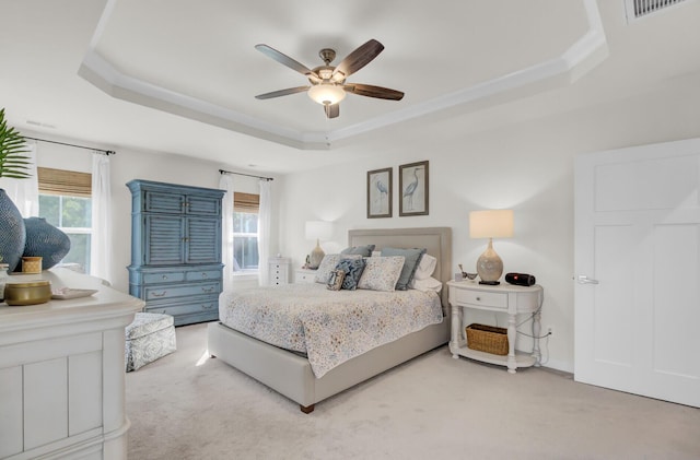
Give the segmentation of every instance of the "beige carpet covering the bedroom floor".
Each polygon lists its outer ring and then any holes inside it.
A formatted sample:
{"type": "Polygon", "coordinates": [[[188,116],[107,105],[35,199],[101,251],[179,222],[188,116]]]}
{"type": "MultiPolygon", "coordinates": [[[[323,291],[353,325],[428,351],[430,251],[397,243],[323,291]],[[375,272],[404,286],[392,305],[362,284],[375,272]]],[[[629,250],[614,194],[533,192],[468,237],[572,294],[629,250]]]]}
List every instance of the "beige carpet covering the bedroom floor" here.
{"type": "Polygon", "coordinates": [[[129,459],[700,459],[700,410],[441,347],[299,405],[219,359],[206,325],[127,374],[129,459]],[[205,357],[203,359],[201,359],[205,357]]]}

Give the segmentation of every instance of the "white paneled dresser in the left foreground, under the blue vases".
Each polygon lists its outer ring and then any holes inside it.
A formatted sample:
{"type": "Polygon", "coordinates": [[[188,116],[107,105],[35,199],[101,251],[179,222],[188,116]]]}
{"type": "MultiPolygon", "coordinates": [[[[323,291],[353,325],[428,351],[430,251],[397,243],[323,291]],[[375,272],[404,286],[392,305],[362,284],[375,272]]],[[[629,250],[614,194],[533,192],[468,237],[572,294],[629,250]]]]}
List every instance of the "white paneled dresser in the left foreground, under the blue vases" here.
{"type": "Polygon", "coordinates": [[[124,328],[143,302],[67,269],[9,282],[35,280],[97,293],[0,303],[0,458],[126,459],[124,328]]]}

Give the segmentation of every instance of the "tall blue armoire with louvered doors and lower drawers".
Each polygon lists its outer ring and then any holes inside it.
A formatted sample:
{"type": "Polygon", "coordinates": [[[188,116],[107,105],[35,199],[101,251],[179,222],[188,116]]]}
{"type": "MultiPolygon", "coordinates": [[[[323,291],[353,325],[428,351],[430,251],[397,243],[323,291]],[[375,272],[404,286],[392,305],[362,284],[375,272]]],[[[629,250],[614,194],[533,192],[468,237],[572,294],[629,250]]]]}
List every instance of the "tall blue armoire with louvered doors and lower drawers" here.
{"type": "Polygon", "coordinates": [[[225,191],[131,180],[129,294],[175,326],[219,319],[225,191]]]}

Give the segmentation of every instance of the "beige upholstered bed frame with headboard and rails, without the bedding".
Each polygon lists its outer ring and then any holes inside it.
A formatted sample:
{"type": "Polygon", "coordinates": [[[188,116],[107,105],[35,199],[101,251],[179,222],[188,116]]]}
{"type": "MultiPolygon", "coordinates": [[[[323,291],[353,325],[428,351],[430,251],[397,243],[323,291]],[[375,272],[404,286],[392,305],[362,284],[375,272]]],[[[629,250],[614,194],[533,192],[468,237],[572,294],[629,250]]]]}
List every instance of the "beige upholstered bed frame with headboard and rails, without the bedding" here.
{"type": "MultiPolygon", "coordinates": [[[[448,227],[351,229],[349,246],[425,248],[438,258],[433,278],[445,283],[452,273],[452,232],[448,227]]],[[[222,294],[223,295],[223,294],[222,294]]],[[[221,322],[208,327],[208,347],[217,357],[299,403],[304,413],[315,404],[450,340],[447,288],[441,292],[443,320],[374,347],[317,378],[307,357],[238,332],[221,322]]]]}

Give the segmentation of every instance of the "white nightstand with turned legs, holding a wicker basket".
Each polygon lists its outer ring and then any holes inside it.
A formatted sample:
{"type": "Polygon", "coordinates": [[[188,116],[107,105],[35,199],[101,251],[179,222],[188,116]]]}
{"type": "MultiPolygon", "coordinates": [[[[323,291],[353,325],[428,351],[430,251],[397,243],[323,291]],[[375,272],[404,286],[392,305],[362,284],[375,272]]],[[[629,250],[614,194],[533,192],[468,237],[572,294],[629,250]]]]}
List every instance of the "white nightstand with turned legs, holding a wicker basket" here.
{"type": "Polygon", "coordinates": [[[455,359],[465,356],[485,363],[508,366],[508,371],[515,374],[518,367],[539,366],[540,307],[544,290],[540,285],[516,286],[500,284],[497,286],[479,284],[472,281],[450,281],[450,305],[452,305],[452,337],[450,351],[455,359]],[[508,356],[485,353],[467,347],[463,325],[464,309],[501,311],[508,315],[508,356]],[[534,314],[534,345],[530,354],[515,353],[515,316],[534,314]]]}

